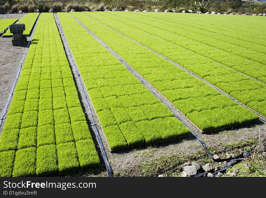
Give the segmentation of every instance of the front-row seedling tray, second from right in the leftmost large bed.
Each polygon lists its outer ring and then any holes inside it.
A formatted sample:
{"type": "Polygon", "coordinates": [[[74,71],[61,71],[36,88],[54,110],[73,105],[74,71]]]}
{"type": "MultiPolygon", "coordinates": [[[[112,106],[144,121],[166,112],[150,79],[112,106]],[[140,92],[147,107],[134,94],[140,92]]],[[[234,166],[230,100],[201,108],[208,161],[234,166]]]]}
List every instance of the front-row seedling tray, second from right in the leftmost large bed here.
{"type": "Polygon", "coordinates": [[[77,150],[74,142],[57,145],[59,173],[70,172],[79,168],[77,150]]]}

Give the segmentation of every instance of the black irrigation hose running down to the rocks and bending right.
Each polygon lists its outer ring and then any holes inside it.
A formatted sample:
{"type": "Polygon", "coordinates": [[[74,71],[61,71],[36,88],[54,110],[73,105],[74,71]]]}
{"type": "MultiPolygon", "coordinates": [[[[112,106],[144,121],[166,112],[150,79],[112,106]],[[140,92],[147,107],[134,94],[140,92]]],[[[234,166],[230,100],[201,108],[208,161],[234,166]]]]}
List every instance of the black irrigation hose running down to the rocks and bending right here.
{"type": "MultiPolygon", "coordinates": [[[[188,127],[187,126],[187,124],[186,123],[184,123],[184,121],[183,120],[181,120],[181,118],[175,113],[175,112],[173,112],[173,110],[154,92],[154,91],[152,91],[144,82],[143,82],[143,80],[141,80],[140,78],[139,78],[139,76],[138,75],[136,75],[133,71],[132,71],[132,69],[131,69],[131,66],[130,66],[130,64],[128,64],[122,57],[120,57],[115,51],[113,51],[105,42],[103,42],[99,37],[97,37],[91,30],[89,30],[84,24],[82,24],[76,17],[74,17],[73,15],[72,15],[72,17],[77,21],[77,22],[79,22],[79,24],[82,26],[82,27],[84,27],[98,42],[100,42],[101,44],[102,44],[102,46],[104,46],[112,55],[114,55],[119,61],[121,61],[121,63],[122,64],[124,64],[125,65],[125,67],[138,79],[138,80],[140,80],[141,81],[141,83],[146,87],[146,88],[148,88],[148,90],[151,92],[151,93],[153,93],[153,95],[157,98],[157,99],[159,99],[164,105],[166,105],[167,106],[167,108],[169,108],[170,109],[170,111],[175,115],[175,117],[179,120],[179,121],[181,121],[189,130],[190,130],[190,133],[201,143],[201,145],[203,146],[203,148],[205,149],[205,151],[207,152],[207,154],[208,154],[208,156],[214,161],[214,162],[222,162],[222,161],[229,161],[230,160],[230,162],[224,167],[224,168],[222,168],[222,169],[220,169],[220,170],[218,170],[218,171],[215,171],[215,172],[213,172],[213,174],[216,174],[216,173],[218,173],[218,172],[220,172],[220,171],[223,171],[223,170],[225,170],[225,169],[227,169],[227,168],[230,168],[230,166],[232,165],[232,163],[234,162],[234,161],[240,161],[240,160],[244,160],[247,156],[248,156],[248,154],[249,154],[249,152],[244,152],[244,153],[241,153],[240,155],[238,155],[238,156],[235,156],[234,158],[227,158],[227,159],[214,159],[213,158],[213,156],[212,156],[212,154],[210,153],[210,151],[209,151],[209,149],[207,148],[207,146],[206,146],[206,144],[200,139],[200,137],[198,137],[194,132],[193,132],[193,130],[190,128],[190,127],[188,127]]],[[[137,71],[136,71],[136,73],[138,73],[137,71]]],[[[139,74],[139,73],[138,73],[139,74]]],[[[139,74],[140,75],[140,74],[139,74]]],[[[195,74],[196,75],[196,74],[195,74]]],[[[141,75],[140,75],[141,76],[141,75]]],[[[142,77],[142,76],[141,76],[142,77]]],[[[144,78],[144,77],[143,77],[144,78]]],[[[145,79],[145,78],[144,78],[145,79]]],[[[146,80],[147,81],[147,80],[146,80]]],[[[148,81],[147,81],[148,82],[148,81]]],[[[149,83],[150,84],[150,83],[149,83]]],[[[152,85],[151,85],[152,86],[152,85]]],[[[178,109],[177,109],[178,110],[178,109]]],[[[178,110],[179,111],[179,110],[178,110]]],[[[180,112],[180,111],[179,111],[180,112]]],[[[190,122],[191,123],[191,122],[190,122]]],[[[191,124],[193,124],[193,123],[191,123],[191,124]]],[[[194,125],[194,124],[193,124],[194,125]]],[[[195,126],[195,125],[194,125],[195,126]]],[[[198,175],[196,175],[195,177],[200,177],[200,176],[203,176],[203,175],[205,175],[205,174],[208,174],[208,172],[204,172],[204,173],[201,173],[201,174],[198,174],[198,175]]]]}

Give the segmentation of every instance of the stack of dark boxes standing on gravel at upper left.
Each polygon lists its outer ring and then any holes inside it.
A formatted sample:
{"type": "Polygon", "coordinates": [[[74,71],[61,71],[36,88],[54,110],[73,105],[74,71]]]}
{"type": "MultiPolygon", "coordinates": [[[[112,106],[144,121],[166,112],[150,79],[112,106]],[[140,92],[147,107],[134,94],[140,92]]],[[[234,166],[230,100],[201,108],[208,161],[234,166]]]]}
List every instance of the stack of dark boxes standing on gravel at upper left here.
{"type": "Polygon", "coordinates": [[[26,45],[27,36],[23,36],[25,30],[25,24],[13,24],[9,27],[10,33],[13,34],[12,45],[24,46],[26,45]]]}

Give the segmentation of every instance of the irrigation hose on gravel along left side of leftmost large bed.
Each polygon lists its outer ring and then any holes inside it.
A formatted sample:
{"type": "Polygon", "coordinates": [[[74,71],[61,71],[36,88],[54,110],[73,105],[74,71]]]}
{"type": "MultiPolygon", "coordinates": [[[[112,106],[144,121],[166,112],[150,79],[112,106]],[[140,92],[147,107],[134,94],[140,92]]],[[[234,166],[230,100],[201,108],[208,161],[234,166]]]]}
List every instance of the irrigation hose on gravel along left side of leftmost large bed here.
{"type": "Polygon", "coordinates": [[[31,37],[30,37],[30,39],[29,39],[29,41],[28,41],[28,45],[27,45],[26,52],[24,53],[24,56],[23,56],[23,58],[22,58],[22,60],[21,60],[21,62],[20,62],[20,64],[19,64],[19,66],[18,66],[17,75],[16,75],[15,80],[14,80],[12,86],[11,86],[10,92],[9,92],[9,94],[8,94],[8,98],[7,98],[6,102],[5,102],[5,106],[4,106],[3,110],[2,110],[2,113],[1,113],[1,116],[0,116],[0,127],[1,127],[2,122],[3,122],[3,119],[4,119],[4,117],[5,117],[5,114],[6,114],[6,111],[7,111],[8,105],[9,105],[9,103],[10,103],[11,97],[12,97],[12,95],[13,95],[13,92],[14,92],[14,89],[15,89],[15,86],[16,86],[16,83],[17,83],[17,80],[18,80],[18,77],[19,77],[20,72],[21,72],[21,69],[22,69],[22,65],[23,65],[23,63],[24,63],[24,61],[25,61],[25,59],[26,59],[26,56],[27,56],[27,53],[28,53],[28,50],[29,50],[29,46],[30,46],[30,43],[31,43],[31,40],[32,40],[32,37],[33,37],[34,31],[35,31],[35,28],[36,28],[36,26],[37,26],[37,23],[38,23],[38,21],[39,21],[40,16],[41,16],[41,14],[39,14],[39,16],[38,16],[38,18],[37,18],[37,20],[36,20],[36,22],[35,22],[34,28],[33,28],[32,33],[31,33],[31,37]]]}

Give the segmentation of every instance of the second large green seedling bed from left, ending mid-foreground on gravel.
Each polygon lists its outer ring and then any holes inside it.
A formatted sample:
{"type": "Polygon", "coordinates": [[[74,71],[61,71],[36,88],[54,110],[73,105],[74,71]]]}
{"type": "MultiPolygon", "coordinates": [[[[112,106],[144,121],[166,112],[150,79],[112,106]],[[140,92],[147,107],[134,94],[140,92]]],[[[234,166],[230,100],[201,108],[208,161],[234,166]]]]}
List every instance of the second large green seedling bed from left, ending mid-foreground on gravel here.
{"type": "MultiPolygon", "coordinates": [[[[58,15],[110,149],[144,145],[146,140],[137,129],[137,122],[174,116],[173,113],[85,29],[80,28],[69,14],[58,15]],[[76,35],[71,33],[70,27],[77,30],[76,35]],[[77,42],[79,39],[83,42],[77,42]],[[133,113],[131,108],[134,109],[133,113]]],[[[69,93],[70,87],[65,87],[66,93],[69,93]]],[[[79,121],[76,116],[83,112],[79,107],[70,108],[69,114],[74,137],[82,138],[84,133],[78,133],[76,130],[76,122],[79,121]],[[75,130],[77,133],[74,133],[75,130]]],[[[164,120],[154,120],[151,128],[159,127],[163,123],[164,120]]],[[[180,121],[177,120],[177,123],[181,130],[175,130],[172,140],[180,137],[182,133],[186,136],[190,133],[180,121]]],[[[155,133],[161,137],[160,141],[164,141],[162,136],[166,137],[169,130],[170,128],[165,127],[160,134],[155,133]]],[[[149,134],[151,130],[145,133],[149,134]]],[[[152,143],[156,141],[157,139],[154,139],[152,143]]]]}

